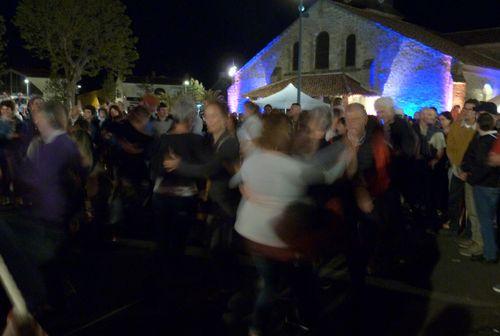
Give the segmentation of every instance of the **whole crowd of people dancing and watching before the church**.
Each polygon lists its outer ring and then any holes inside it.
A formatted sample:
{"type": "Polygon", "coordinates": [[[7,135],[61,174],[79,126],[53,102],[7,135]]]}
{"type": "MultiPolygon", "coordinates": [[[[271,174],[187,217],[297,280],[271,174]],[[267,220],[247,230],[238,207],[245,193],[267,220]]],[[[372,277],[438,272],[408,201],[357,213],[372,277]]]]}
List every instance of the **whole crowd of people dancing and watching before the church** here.
{"type": "Polygon", "coordinates": [[[313,326],[318,261],[334,254],[346,255],[360,291],[400,252],[402,213],[427,234],[455,237],[461,255],[498,262],[493,103],[424,107],[413,118],[389,97],[375,102],[377,116],[340,100],[286,112],[248,101],[241,116],[208,101],[200,118],[188,97],[167,106],[154,95],[128,111],[68,112],[40,97],[23,113],[11,100],[0,106],[2,205],[19,212],[0,225],[0,253],[33,311],[50,302],[41,273],[72,239],[143,233],[144,218],[166,284],[183,272],[196,223],[210,228],[203,244],[221,252],[215,259],[244,247],[262,279],[250,335],[269,330],[284,286],[300,325],[313,326]]]}

